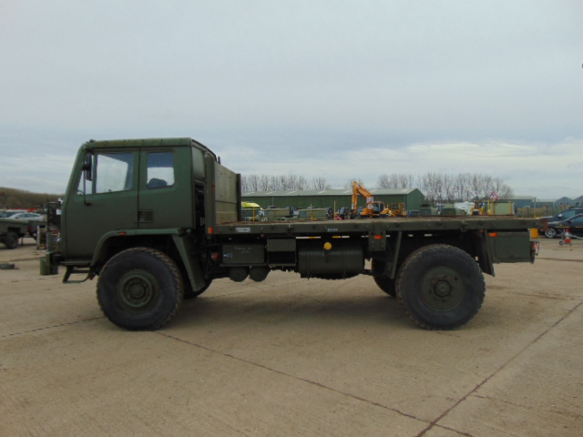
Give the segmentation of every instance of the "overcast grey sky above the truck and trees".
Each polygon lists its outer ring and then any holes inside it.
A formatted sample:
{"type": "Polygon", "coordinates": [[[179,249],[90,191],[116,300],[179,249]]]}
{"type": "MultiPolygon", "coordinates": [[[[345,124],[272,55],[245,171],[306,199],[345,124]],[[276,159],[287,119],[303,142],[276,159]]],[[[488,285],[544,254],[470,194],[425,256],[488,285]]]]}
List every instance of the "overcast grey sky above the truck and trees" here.
{"type": "Polygon", "coordinates": [[[0,0],[0,186],[88,139],[191,136],[242,174],[501,177],[583,195],[583,2],[0,0]]]}

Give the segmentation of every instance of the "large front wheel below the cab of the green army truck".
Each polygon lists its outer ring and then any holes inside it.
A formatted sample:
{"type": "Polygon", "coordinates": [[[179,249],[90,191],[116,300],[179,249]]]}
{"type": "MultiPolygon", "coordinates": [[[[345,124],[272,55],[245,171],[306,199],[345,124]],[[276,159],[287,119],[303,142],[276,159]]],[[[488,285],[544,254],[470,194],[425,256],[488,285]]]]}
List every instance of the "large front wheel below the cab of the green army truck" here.
{"type": "Polygon", "coordinates": [[[129,330],[163,326],[180,308],[184,281],[165,253],[146,247],[113,256],[101,270],[97,301],[115,325],[129,330]]]}

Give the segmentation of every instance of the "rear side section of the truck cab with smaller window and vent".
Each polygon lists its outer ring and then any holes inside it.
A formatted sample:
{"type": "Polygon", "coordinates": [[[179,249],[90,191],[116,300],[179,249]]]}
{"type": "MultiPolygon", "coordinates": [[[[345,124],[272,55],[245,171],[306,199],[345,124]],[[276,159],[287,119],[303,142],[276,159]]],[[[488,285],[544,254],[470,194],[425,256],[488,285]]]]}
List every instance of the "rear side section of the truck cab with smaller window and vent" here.
{"type": "Polygon", "coordinates": [[[138,227],[192,227],[191,147],[140,151],[138,227]]]}

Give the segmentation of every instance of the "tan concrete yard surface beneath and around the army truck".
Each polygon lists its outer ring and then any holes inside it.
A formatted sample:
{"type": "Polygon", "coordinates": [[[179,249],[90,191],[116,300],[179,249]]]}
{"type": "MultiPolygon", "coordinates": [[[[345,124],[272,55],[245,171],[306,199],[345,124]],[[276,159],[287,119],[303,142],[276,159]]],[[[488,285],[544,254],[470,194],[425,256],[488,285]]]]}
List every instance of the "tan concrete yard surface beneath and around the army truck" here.
{"type": "MultiPolygon", "coordinates": [[[[371,277],[216,280],[157,332],[0,249],[0,436],[581,436],[583,241],[497,265],[431,332],[371,277]]],[[[62,270],[62,269],[61,269],[62,270]]]]}

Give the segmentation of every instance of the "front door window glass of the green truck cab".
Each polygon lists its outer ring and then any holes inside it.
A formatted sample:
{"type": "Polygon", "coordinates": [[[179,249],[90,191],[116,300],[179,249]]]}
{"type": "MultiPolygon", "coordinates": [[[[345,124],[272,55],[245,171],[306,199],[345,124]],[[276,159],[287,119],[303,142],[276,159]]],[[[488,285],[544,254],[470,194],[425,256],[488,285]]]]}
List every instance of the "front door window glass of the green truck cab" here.
{"type": "Polygon", "coordinates": [[[101,153],[96,156],[96,160],[96,193],[126,191],[132,188],[133,153],[101,153]]]}

